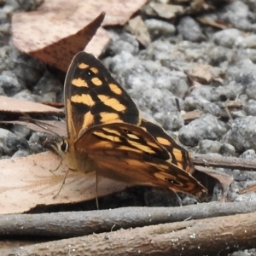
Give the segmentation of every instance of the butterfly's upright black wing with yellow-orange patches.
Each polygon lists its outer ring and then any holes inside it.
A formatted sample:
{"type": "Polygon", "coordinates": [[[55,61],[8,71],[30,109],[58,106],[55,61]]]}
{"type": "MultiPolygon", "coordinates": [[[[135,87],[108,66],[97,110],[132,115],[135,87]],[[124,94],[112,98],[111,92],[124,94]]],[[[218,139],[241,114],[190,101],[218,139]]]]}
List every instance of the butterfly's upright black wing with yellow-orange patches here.
{"type": "Polygon", "coordinates": [[[67,71],[65,100],[68,135],[79,137],[94,125],[138,125],[139,111],[108,69],[93,55],[79,52],[67,71]]]}

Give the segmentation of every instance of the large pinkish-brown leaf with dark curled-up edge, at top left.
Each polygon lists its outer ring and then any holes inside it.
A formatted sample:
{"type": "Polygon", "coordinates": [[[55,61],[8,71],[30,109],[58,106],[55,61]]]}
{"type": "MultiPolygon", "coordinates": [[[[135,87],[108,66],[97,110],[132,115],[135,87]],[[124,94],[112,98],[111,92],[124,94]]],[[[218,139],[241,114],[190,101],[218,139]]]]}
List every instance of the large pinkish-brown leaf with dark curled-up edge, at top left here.
{"type": "MultiPolygon", "coordinates": [[[[84,49],[101,25],[103,16],[98,15],[102,11],[107,12],[104,25],[124,25],[146,2],[44,0],[36,11],[13,15],[13,41],[20,51],[66,72],[73,55],[84,49]]],[[[86,51],[100,55],[109,38],[99,28],[86,51]]]]}

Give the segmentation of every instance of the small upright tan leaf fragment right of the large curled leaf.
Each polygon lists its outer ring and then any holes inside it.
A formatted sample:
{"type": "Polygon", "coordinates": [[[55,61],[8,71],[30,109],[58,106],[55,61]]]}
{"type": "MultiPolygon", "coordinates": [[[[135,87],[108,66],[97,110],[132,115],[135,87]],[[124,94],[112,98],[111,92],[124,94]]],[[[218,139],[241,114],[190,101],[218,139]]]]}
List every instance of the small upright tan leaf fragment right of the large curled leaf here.
{"type": "Polygon", "coordinates": [[[143,44],[143,46],[147,48],[148,44],[151,42],[151,39],[148,28],[145,25],[142,17],[137,16],[134,19],[129,20],[128,25],[128,30],[131,32],[131,34],[137,38],[139,43],[143,44]]]}

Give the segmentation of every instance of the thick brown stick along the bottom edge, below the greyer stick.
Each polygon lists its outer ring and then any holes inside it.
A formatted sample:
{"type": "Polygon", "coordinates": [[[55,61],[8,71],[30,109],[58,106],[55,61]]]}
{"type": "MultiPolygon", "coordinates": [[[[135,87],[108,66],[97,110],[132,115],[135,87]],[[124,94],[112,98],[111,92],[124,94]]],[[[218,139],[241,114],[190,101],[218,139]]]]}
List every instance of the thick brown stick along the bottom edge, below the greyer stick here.
{"type": "Polygon", "coordinates": [[[256,214],[110,231],[0,250],[1,255],[218,255],[256,246],[256,214]]]}

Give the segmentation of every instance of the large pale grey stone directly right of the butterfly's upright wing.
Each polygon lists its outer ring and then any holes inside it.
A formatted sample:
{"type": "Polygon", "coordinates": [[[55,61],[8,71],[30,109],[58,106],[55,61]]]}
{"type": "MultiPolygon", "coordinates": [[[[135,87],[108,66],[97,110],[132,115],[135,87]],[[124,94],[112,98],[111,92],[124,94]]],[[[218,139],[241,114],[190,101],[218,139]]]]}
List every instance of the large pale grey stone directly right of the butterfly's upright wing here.
{"type": "MultiPolygon", "coordinates": [[[[143,113],[151,114],[167,130],[179,129],[183,119],[177,113],[176,97],[184,96],[189,86],[172,86],[172,74],[168,74],[166,67],[161,67],[160,63],[137,60],[133,65],[119,73],[119,83],[134,97],[143,113]],[[172,94],[171,87],[177,96],[172,94]]],[[[183,101],[180,99],[180,102],[182,104],[183,101]]]]}

